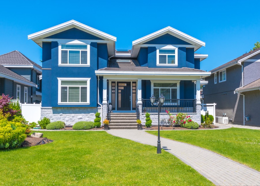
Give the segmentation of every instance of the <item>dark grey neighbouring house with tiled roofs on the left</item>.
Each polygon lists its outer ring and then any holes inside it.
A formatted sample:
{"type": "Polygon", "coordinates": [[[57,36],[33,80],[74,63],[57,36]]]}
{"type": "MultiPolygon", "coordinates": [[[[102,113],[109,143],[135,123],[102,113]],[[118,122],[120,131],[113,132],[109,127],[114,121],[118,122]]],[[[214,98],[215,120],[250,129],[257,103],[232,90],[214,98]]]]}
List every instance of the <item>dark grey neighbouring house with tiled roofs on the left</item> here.
{"type": "Polygon", "coordinates": [[[19,51],[0,55],[0,94],[20,103],[41,103],[42,67],[19,51]]]}

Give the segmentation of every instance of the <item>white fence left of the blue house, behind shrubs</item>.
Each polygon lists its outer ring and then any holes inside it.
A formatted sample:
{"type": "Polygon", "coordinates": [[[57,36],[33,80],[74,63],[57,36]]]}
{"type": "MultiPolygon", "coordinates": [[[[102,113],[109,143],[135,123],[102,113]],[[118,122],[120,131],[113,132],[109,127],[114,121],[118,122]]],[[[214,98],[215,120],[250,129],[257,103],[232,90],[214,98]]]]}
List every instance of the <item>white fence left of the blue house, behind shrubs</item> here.
{"type": "Polygon", "coordinates": [[[31,122],[37,122],[41,118],[41,104],[23,104],[21,103],[23,117],[31,122]]]}

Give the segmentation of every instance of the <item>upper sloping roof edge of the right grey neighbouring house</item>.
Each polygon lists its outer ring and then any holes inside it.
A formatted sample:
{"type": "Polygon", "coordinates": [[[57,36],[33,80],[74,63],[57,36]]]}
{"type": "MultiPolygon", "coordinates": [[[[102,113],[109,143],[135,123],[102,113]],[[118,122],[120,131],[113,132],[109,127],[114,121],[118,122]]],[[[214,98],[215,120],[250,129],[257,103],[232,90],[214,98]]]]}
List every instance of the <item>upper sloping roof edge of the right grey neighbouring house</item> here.
{"type": "Polygon", "coordinates": [[[245,60],[245,59],[247,59],[247,58],[249,58],[252,55],[255,55],[257,53],[260,53],[260,48],[252,50],[252,51],[250,51],[248,53],[244,53],[243,55],[241,55],[241,56],[239,56],[239,57],[237,57],[237,58],[235,58],[235,59],[233,59],[233,60],[223,64],[223,65],[220,65],[219,67],[214,68],[213,70],[210,70],[210,71],[212,73],[214,73],[214,72],[217,72],[219,70],[222,70],[222,68],[227,68],[227,67],[233,66],[233,65],[235,65],[236,62],[243,61],[243,60],[245,60]]]}

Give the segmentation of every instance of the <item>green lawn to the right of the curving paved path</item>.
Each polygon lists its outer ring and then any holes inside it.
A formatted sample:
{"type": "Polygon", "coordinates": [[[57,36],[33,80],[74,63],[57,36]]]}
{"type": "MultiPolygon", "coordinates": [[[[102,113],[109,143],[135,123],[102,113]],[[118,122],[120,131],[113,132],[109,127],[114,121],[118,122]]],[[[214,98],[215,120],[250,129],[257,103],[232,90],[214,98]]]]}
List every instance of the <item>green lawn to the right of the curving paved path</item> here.
{"type": "MultiPolygon", "coordinates": [[[[158,134],[158,131],[147,132],[158,134]]],[[[212,150],[260,171],[260,130],[239,128],[199,131],[173,130],[160,131],[160,136],[212,150]]]]}

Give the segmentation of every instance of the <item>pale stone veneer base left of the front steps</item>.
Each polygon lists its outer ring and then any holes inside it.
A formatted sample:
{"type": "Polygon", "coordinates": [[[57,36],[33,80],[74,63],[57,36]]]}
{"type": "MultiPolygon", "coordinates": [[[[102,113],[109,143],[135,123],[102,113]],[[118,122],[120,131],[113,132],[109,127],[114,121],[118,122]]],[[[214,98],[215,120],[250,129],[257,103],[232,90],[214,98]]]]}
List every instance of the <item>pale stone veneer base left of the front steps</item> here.
{"type": "Polygon", "coordinates": [[[50,122],[63,121],[66,125],[74,125],[78,121],[94,121],[96,112],[101,107],[53,107],[41,108],[41,118],[49,118],[50,122]]]}

